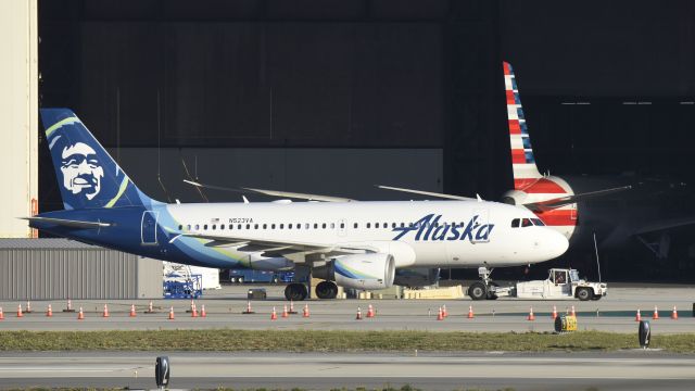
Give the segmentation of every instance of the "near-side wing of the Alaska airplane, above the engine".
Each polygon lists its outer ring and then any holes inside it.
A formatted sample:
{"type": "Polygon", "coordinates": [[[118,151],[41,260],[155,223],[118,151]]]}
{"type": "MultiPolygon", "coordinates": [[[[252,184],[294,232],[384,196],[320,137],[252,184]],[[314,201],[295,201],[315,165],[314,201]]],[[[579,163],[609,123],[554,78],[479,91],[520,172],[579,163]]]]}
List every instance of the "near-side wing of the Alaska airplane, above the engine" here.
{"type": "MultiPolygon", "coordinates": [[[[241,236],[223,237],[207,234],[187,232],[175,236],[169,242],[174,242],[178,238],[198,238],[207,239],[206,245],[210,247],[235,247],[239,251],[243,252],[264,252],[271,255],[289,256],[291,254],[326,254],[326,255],[343,255],[355,253],[375,252],[376,249],[359,245],[341,245],[341,244],[324,244],[324,243],[311,243],[311,242],[296,242],[288,240],[267,240],[247,238],[241,236]]],[[[296,262],[296,261],[295,261],[296,262]]]]}

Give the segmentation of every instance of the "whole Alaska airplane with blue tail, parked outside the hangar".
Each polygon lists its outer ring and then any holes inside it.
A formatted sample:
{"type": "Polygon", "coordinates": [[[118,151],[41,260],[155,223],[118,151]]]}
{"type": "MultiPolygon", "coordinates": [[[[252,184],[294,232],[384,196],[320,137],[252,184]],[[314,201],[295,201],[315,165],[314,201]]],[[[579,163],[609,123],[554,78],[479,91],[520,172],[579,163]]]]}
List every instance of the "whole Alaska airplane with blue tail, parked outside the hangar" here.
{"type": "MultiPolygon", "coordinates": [[[[568,248],[529,210],[480,199],[162,203],[72,111],[40,113],[64,210],[27,219],[85,243],[206,267],[305,269],[326,280],[316,287],[321,299],[336,298],[338,286],[389,288],[397,269],[527,265],[568,248]]],[[[307,290],[291,283],[285,294],[304,300],[307,290]]]]}

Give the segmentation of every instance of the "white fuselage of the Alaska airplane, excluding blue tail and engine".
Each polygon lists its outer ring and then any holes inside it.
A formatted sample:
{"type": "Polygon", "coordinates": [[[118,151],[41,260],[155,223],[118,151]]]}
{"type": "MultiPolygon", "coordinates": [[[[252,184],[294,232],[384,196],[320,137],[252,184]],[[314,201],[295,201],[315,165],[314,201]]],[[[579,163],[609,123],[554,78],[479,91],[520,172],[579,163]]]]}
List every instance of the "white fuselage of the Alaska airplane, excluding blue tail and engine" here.
{"type": "MultiPolygon", "coordinates": [[[[535,218],[526,209],[476,201],[260,202],[166,204],[160,224],[172,234],[228,238],[228,245],[181,237],[189,255],[247,260],[263,266],[263,251],[243,241],[359,247],[393,255],[396,268],[526,265],[552,260],[568,247],[545,226],[511,227],[514,218],[535,218]],[[243,239],[243,240],[240,240],[243,239]],[[245,251],[240,251],[244,249],[245,251]]],[[[244,261],[241,261],[242,263],[244,261]]],[[[216,266],[220,266],[217,263],[216,266]]]]}

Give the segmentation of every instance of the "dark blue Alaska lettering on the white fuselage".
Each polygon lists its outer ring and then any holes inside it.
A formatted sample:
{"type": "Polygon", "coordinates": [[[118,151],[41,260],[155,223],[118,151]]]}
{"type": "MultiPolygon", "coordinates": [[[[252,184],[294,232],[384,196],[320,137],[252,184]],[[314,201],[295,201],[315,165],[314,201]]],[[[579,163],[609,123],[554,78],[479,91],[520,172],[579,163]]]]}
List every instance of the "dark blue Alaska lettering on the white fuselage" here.
{"type": "Polygon", "coordinates": [[[480,216],[475,215],[467,224],[451,225],[440,224],[442,215],[429,214],[412,226],[396,227],[393,231],[400,232],[393,238],[399,240],[409,232],[415,234],[416,241],[434,241],[434,240],[470,240],[470,241],[488,241],[494,224],[483,224],[480,216]]]}

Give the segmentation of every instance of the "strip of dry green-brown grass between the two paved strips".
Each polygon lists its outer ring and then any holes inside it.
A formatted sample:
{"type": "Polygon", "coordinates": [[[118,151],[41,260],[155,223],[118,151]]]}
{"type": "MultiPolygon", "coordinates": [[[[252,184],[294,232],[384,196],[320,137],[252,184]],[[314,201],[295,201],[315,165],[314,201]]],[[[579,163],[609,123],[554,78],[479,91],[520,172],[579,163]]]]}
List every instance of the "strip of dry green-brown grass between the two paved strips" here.
{"type": "MultiPolygon", "coordinates": [[[[616,351],[636,333],[318,330],[0,331],[0,351],[616,351]]],[[[652,336],[649,348],[695,353],[695,333],[652,336]]]]}

